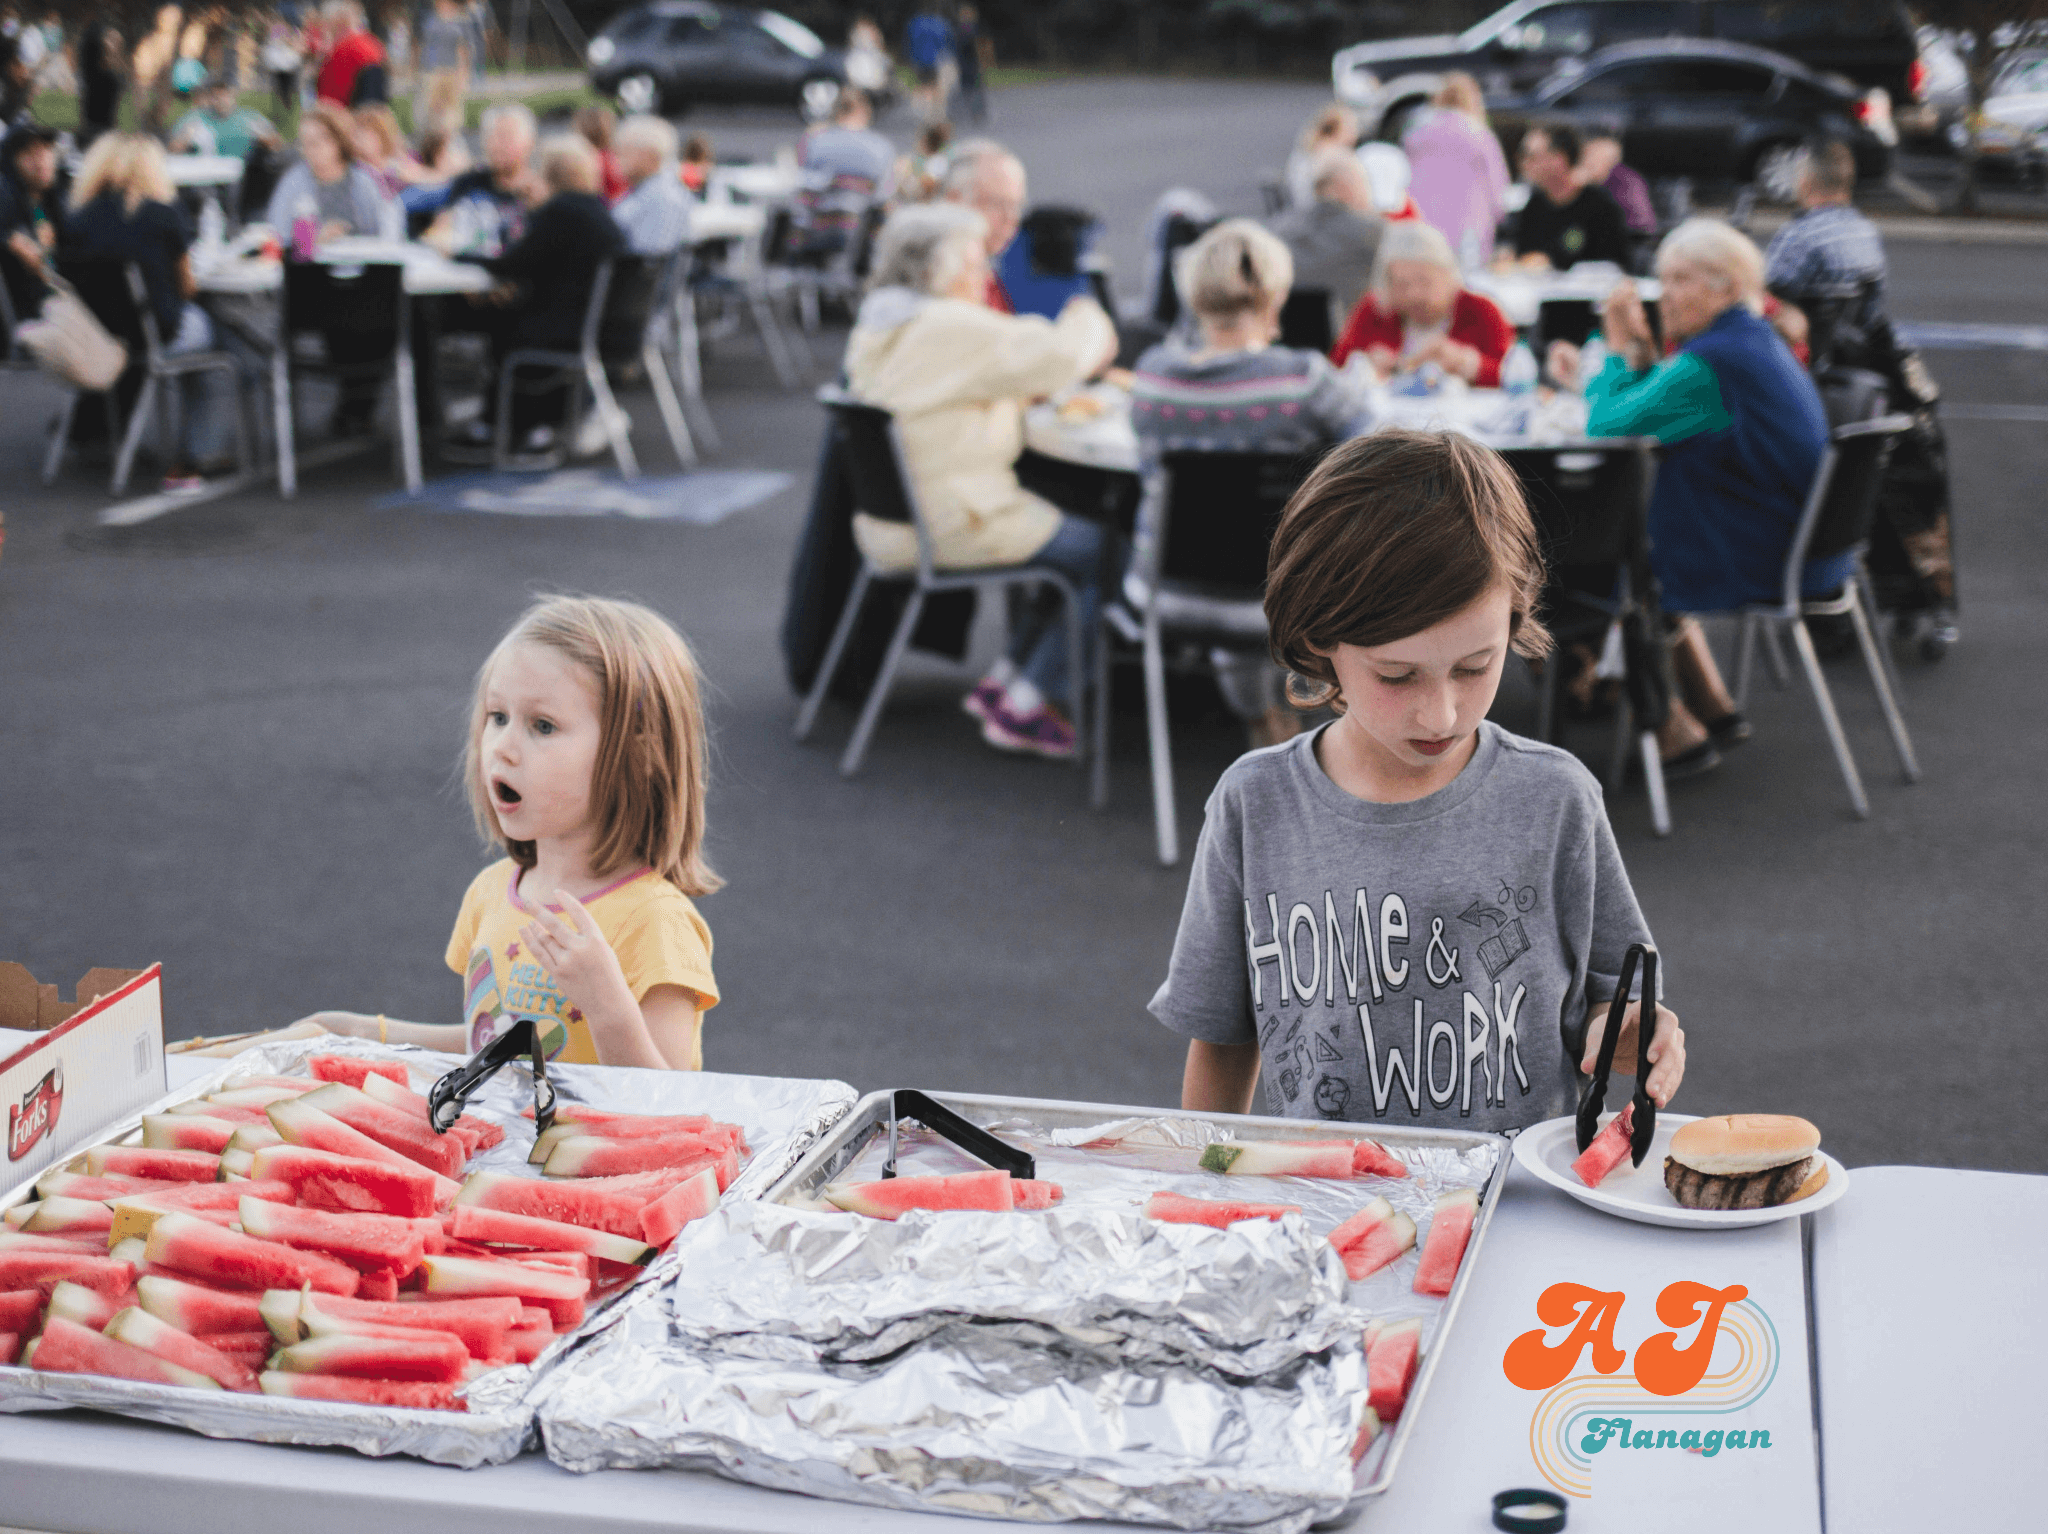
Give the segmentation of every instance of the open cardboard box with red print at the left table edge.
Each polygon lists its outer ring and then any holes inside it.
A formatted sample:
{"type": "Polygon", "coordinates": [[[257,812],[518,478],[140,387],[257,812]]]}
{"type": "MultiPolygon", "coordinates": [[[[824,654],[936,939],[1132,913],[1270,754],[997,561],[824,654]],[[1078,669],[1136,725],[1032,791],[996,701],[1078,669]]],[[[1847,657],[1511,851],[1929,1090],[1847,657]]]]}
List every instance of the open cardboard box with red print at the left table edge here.
{"type": "Polygon", "coordinates": [[[164,1096],[164,969],[88,969],[72,1002],[0,961],[0,1190],[164,1096]]]}

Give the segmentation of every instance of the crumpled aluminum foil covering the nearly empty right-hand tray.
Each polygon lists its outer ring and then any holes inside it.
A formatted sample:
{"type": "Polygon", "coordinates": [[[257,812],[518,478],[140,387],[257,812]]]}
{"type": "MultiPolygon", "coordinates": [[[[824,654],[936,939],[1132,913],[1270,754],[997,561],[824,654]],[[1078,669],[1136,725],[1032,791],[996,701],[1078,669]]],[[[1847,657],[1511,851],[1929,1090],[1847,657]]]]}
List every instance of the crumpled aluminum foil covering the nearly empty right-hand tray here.
{"type": "MultiPolygon", "coordinates": [[[[821,1182],[881,1176],[887,1137],[870,1135],[879,1110],[864,1102],[780,1202],[694,1227],[678,1284],[643,1294],[543,1382],[549,1456],[571,1471],[715,1468],[920,1511],[1288,1534],[1382,1485],[1393,1434],[1360,1466],[1350,1454],[1364,1325],[1419,1315],[1432,1346],[1452,1307],[1413,1294],[1413,1253],[1352,1284],[1323,1237],[1370,1196],[1423,1223],[1440,1194],[1495,1180],[1501,1141],[1386,1135],[1411,1176],[1370,1190],[1247,1184],[1196,1169],[1200,1147],[1300,1124],[948,1104],[1032,1151],[1063,1202],[895,1223],[815,1208],[821,1182]],[[1139,1212],[1161,1188],[1303,1215],[1161,1225],[1139,1212]]],[[[979,1167],[909,1124],[897,1157],[905,1176],[979,1167]]]]}

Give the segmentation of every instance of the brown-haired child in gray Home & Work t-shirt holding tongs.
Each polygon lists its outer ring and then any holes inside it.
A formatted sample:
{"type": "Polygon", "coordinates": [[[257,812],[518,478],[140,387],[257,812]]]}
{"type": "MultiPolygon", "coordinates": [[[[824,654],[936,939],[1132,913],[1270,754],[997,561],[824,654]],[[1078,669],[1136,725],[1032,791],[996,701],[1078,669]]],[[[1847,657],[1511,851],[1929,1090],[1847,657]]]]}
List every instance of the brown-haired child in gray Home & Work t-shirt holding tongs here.
{"type": "MultiPolygon", "coordinates": [[[[1151,1012],[1190,1038],[1182,1106],[1518,1128],[1569,1114],[1622,956],[1651,934],[1599,784],[1485,719],[1542,653],[1536,535],[1507,465],[1454,434],[1337,449],[1274,537],[1274,653],[1341,715],[1208,799],[1151,1012]]],[[[1616,1069],[1636,1063],[1636,1008],[1616,1069]]],[[[1657,1008],[1649,1092],[1683,1032],[1657,1008]]]]}

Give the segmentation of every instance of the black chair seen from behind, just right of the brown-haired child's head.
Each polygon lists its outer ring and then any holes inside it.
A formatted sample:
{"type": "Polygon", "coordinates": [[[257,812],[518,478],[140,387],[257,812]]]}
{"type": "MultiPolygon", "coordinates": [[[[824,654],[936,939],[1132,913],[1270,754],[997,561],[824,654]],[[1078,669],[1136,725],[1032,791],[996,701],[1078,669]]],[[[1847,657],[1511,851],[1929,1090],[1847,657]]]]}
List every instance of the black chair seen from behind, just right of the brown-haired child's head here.
{"type": "MultiPolygon", "coordinates": [[[[1608,786],[1618,791],[1636,748],[1649,784],[1651,825],[1671,834],[1657,727],[1669,713],[1657,647],[1663,643],[1649,573],[1649,504],[1657,481],[1657,442],[1614,438],[1565,446],[1518,446],[1501,457],[1522,481],[1542,539],[1548,584],[1544,623],[1563,647],[1595,651],[1620,625],[1624,686],[1614,725],[1608,786]]],[[[1554,741],[1556,698],[1565,682],[1552,651],[1536,690],[1536,737],[1554,741]]]]}

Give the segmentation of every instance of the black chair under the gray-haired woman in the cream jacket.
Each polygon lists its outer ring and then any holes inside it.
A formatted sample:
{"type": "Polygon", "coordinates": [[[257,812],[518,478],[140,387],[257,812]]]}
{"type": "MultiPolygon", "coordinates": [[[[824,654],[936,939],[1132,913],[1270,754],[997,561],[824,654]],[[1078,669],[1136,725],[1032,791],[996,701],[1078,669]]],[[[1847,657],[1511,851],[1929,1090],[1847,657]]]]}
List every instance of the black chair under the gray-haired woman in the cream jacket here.
{"type": "MultiPolygon", "coordinates": [[[[860,604],[866,600],[868,588],[881,582],[909,584],[909,596],[903,602],[903,616],[897,619],[895,633],[889,637],[889,649],[883,655],[881,670],[874,674],[874,684],[868,688],[866,702],[860,705],[854,735],[840,756],[842,774],[852,776],[860,770],[868,739],[874,735],[883,705],[889,700],[889,686],[895,682],[897,666],[903,662],[903,649],[918,627],[918,614],[924,610],[926,598],[934,592],[975,590],[1008,596],[1012,590],[1036,586],[1057,590],[1067,610],[1067,674],[1073,678],[1073,690],[1079,696],[1085,688],[1081,672],[1081,602],[1073,584],[1053,569],[1034,569],[1030,565],[940,569],[932,551],[932,528],[918,508],[918,492],[911,487],[909,471],[903,467],[903,442],[897,434],[895,418],[879,406],[854,399],[844,389],[821,389],[817,397],[825,406],[831,430],[840,434],[846,471],[854,485],[854,508],[877,520],[915,528],[918,563],[913,569],[881,569],[866,555],[860,557],[860,573],[854,578],[854,588],[846,594],[840,625],[831,631],[831,645],[827,645],[825,659],[811,680],[811,690],[797,711],[797,739],[809,737],[811,725],[817,723],[817,711],[825,702],[825,692],[831,690],[831,678],[840,670],[846,645],[854,637],[854,625],[860,621],[860,604]]],[[[1081,717],[1079,709],[1075,717],[1081,717]]],[[[1081,752],[1075,752],[1073,760],[1079,766],[1085,758],[1081,752]]]]}

